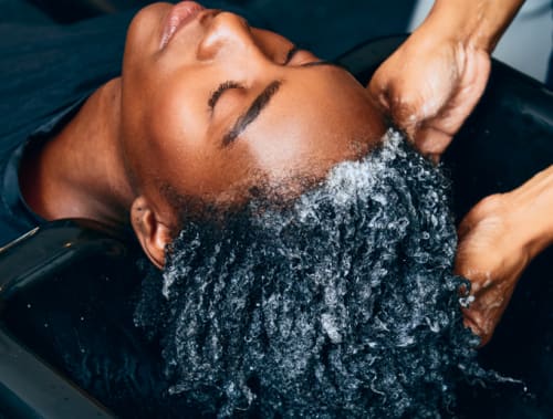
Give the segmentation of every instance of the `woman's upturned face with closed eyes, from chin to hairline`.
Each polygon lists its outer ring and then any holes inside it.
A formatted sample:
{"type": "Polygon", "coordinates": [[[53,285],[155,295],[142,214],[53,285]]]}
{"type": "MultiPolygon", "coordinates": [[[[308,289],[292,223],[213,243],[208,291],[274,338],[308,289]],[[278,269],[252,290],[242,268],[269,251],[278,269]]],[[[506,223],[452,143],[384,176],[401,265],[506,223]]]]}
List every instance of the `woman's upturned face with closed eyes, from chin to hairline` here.
{"type": "Polygon", "coordinates": [[[384,133],[365,88],[239,15],[155,3],[133,20],[122,139],[140,193],[232,199],[259,181],[324,176],[384,133]]]}

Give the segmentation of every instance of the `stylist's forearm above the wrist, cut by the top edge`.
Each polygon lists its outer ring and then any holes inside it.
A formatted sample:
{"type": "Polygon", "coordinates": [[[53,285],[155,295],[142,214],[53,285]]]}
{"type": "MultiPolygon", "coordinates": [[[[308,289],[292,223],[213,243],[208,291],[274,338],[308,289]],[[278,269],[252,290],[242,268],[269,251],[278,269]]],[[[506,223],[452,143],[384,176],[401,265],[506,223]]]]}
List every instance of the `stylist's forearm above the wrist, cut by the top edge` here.
{"type": "Polygon", "coordinates": [[[524,0],[436,0],[426,23],[456,41],[493,51],[524,0]]]}

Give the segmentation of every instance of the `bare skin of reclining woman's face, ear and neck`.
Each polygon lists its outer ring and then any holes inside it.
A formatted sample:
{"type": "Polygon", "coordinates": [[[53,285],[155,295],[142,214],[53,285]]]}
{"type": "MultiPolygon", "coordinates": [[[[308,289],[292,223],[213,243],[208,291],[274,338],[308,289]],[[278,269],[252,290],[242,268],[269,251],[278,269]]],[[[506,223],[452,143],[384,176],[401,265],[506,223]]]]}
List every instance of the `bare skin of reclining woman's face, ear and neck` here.
{"type": "Polygon", "coordinates": [[[159,268],[179,218],[163,186],[229,201],[260,175],[274,182],[322,177],[366,154],[385,132],[351,74],[236,14],[202,10],[164,44],[171,10],[155,3],[135,17],[122,77],[28,159],[21,181],[31,208],[46,219],[131,220],[159,268]],[[265,106],[239,124],[260,97],[265,106]]]}

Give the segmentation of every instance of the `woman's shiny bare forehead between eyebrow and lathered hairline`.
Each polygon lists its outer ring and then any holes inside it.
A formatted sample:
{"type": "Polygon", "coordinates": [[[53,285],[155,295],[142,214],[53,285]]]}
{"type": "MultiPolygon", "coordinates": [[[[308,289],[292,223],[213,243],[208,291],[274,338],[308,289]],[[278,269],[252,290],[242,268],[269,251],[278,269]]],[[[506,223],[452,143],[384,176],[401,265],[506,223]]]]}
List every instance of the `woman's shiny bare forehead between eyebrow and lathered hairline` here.
{"type": "Polygon", "coordinates": [[[361,86],[343,71],[321,66],[284,78],[241,140],[274,176],[316,172],[366,151],[374,123],[361,86]]]}

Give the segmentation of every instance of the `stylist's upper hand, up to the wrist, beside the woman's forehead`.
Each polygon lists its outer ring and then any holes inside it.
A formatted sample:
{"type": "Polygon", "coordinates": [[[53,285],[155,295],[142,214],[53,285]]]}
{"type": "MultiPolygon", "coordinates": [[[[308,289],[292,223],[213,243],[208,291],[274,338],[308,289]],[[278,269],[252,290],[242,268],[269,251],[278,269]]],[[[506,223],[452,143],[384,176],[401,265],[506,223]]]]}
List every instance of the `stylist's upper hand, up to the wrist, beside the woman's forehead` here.
{"type": "Polygon", "coordinates": [[[422,25],[376,71],[369,92],[420,153],[438,160],[489,74],[486,51],[422,25]]]}

